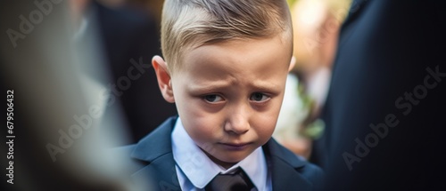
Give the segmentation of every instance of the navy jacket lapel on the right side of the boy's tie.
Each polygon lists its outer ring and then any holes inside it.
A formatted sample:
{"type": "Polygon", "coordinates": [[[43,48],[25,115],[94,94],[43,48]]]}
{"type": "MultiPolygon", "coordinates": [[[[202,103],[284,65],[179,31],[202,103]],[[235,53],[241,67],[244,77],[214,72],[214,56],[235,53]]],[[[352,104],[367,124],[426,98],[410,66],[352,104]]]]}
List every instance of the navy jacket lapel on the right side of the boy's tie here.
{"type": "Polygon", "coordinates": [[[269,160],[273,190],[312,190],[310,181],[298,171],[306,162],[297,160],[296,155],[274,139],[269,139],[263,150],[269,160]]]}

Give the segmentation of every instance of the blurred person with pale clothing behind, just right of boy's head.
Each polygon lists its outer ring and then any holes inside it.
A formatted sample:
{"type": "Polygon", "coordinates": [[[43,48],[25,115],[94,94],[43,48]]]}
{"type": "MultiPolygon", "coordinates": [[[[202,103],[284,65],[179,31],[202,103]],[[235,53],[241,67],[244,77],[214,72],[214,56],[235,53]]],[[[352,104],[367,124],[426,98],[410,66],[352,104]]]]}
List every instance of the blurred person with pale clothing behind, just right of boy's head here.
{"type": "Polygon", "coordinates": [[[350,0],[300,0],[293,5],[293,72],[314,100],[315,116],[325,103],[339,28],[349,4],[350,0]]]}

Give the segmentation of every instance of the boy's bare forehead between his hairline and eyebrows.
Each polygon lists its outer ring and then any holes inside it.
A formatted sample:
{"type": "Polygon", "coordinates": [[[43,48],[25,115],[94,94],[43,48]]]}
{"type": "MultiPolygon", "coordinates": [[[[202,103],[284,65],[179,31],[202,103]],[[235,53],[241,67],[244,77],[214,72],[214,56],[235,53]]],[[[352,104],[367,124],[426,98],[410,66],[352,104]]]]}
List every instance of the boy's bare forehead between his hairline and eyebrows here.
{"type": "MultiPolygon", "coordinates": [[[[232,39],[202,44],[184,52],[179,72],[205,70],[202,73],[261,68],[287,68],[292,57],[292,44],[280,36],[259,39],[232,39]],[[258,62],[258,63],[257,63],[258,62]],[[264,65],[261,65],[264,63],[264,65]],[[270,65],[270,66],[269,66],[270,65]],[[257,68],[250,68],[250,67],[257,68]],[[213,71],[216,70],[216,71],[213,71]]],[[[268,71],[263,71],[268,73],[268,71]]],[[[200,73],[195,73],[199,75],[200,73]]],[[[205,74],[204,74],[205,75],[205,74]]]]}

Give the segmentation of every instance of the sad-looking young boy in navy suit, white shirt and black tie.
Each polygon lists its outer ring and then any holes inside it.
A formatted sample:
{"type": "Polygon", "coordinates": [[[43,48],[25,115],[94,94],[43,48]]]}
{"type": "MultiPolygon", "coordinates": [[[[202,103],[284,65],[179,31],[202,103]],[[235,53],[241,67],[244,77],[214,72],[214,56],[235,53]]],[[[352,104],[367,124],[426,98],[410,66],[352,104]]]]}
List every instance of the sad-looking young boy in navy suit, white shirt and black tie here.
{"type": "MultiPolygon", "coordinates": [[[[161,94],[178,117],[128,147],[155,190],[312,190],[322,171],[271,138],[293,52],[285,0],[166,0],[161,94]]],[[[162,109],[162,108],[161,108],[162,109]]]]}

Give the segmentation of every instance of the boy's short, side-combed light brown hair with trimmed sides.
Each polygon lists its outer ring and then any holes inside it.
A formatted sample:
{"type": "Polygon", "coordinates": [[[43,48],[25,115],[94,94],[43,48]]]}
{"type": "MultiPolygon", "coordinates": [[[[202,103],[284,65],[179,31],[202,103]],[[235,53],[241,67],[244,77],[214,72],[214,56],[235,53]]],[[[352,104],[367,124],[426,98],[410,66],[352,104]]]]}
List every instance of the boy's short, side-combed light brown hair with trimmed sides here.
{"type": "Polygon", "coordinates": [[[166,0],[161,50],[172,75],[183,54],[203,44],[277,35],[293,44],[292,30],[285,0],[166,0]]]}

